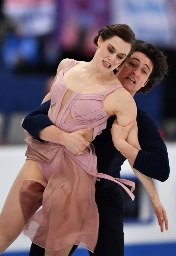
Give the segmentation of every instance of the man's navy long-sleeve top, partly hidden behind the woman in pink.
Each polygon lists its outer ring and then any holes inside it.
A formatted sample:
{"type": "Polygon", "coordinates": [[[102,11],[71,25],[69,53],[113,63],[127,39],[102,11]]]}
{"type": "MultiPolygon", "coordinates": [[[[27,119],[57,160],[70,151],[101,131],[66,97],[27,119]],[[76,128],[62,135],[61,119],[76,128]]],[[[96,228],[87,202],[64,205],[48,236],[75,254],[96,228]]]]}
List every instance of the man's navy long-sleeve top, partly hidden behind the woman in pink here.
{"type": "MultiPolygon", "coordinates": [[[[38,132],[53,125],[47,116],[49,107],[50,100],[37,107],[23,121],[23,128],[38,140],[41,140],[38,137],[38,132]]],[[[121,165],[126,158],[117,151],[112,142],[110,128],[115,118],[114,116],[107,120],[106,129],[96,136],[92,143],[97,155],[98,172],[118,178],[120,177],[121,165]]],[[[160,136],[155,121],[138,106],[137,126],[141,150],[137,154],[133,168],[156,180],[167,180],[169,177],[169,160],[166,145],[160,136]]]]}

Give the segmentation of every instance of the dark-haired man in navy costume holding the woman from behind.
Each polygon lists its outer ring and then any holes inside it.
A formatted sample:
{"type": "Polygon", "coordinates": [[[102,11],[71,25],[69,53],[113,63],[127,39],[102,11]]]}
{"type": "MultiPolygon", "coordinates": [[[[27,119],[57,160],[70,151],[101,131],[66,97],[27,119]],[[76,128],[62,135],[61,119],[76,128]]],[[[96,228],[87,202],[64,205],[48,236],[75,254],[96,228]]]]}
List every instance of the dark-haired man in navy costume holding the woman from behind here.
{"type": "MultiPolygon", "coordinates": [[[[166,72],[166,56],[153,45],[137,40],[132,55],[117,69],[116,76],[123,87],[134,96],[136,92],[143,94],[149,92],[154,85],[161,82],[166,72]],[[153,65],[151,72],[149,72],[149,63],[153,65]]],[[[60,129],[55,127],[47,116],[49,107],[50,101],[47,101],[27,115],[23,121],[23,128],[38,140],[60,143],[60,129]]],[[[166,145],[154,120],[138,106],[136,120],[141,150],[134,148],[125,140],[130,125],[127,127],[119,126],[115,116],[108,119],[106,129],[92,142],[97,155],[98,172],[120,178],[121,165],[128,159],[133,164],[133,168],[139,172],[163,182],[169,177],[166,145]]],[[[82,144],[81,140],[79,144],[78,136],[83,133],[84,131],[81,133],[79,130],[78,134],[76,132],[72,134],[72,138],[68,137],[66,144],[71,150],[78,153],[82,151],[79,145],[83,146],[84,139],[82,144]]],[[[123,256],[125,213],[122,193],[116,183],[105,179],[97,181],[95,187],[95,201],[99,212],[99,234],[94,253],[89,252],[89,255],[123,256]]],[[[155,212],[153,204],[152,207],[155,212]]],[[[162,216],[156,215],[161,232],[163,232],[164,222],[167,230],[167,216],[163,207],[161,211],[162,216]]],[[[69,256],[73,254],[76,248],[77,245],[74,245],[69,256]]],[[[29,256],[44,256],[44,254],[45,249],[32,243],[29,256]]]]}

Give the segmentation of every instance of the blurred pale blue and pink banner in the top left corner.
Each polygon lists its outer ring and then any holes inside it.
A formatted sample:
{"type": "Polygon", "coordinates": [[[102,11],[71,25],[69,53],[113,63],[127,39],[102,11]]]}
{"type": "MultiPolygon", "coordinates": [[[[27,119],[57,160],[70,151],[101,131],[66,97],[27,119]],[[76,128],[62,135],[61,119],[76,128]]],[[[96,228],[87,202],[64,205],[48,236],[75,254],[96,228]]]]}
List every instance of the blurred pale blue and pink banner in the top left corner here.
{"type": "Polygon", "coordinates": [[[56,0],[5,0],[4,13],[16,20],[23,35],[45,35],[56,26],[56,0]]]}

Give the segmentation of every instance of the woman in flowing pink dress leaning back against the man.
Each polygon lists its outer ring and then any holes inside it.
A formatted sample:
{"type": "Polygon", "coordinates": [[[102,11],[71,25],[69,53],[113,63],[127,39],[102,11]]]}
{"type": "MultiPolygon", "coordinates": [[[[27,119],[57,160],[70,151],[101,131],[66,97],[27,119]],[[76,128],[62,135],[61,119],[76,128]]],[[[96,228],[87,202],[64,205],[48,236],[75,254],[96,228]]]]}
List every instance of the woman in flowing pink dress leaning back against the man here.
{"type": "MultiPolygon", "coordinates": [[[[0,216],[0,253],[23,229],[34,243],[45,248],[45,256],[67,256],[73,244],[93,251],[99,225],[94,200],[96,179],[113,180],[134,199],[133,182],[97,173],[90,143],[106,127],[109,116],[116,115],[122,126],[136,119],[132,96],[113,74],[113,69],[130,53],[134,39],[125,24],[106,26],[94,38],[97,50],[90,62],[60,62],[51,93],[45,97],[51,97],[49,117],[65,132],[89,127],[84,136],[88,145],[84,154],[76,155],[64,142],[40,142],[27,134],[27,160],[0,216]],[[123,183],[130,185],[131,191],[123,183]]],[[[127,140],[140,149],[135,122],[127,140]]],[[[133,170],[148,193],[155,195],[152,179],[133,170]]]]}

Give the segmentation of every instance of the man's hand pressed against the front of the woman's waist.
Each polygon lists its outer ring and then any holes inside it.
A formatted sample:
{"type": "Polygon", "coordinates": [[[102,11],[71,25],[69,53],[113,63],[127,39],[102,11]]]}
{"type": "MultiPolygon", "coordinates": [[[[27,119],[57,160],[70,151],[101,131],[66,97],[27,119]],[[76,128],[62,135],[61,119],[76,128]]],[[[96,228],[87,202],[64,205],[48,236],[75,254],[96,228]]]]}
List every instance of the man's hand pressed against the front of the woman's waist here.
{"type": "Polygon", "coordinates": [[[80,129],[71,133],[63,134],[63,142],[62,145],[66,147],[71,153],[75,155],[83,154],[90,144],[90,142],[86,141],[83,137],[84,134],[88,133],[90,128],[80,129]]]}

